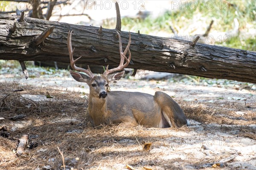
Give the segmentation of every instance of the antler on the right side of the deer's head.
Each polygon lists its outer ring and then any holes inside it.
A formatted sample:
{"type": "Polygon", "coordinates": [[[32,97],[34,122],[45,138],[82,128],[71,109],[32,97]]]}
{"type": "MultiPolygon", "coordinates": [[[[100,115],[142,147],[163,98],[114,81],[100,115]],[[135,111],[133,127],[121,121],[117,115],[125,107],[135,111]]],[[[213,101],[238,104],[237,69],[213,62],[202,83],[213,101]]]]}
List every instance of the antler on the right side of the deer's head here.
{"type": "Polygon", "coordinates": [[[120,37],[118,32],[117,32],[117,35],[119,37],[120,63],[119,63],[118,67],[110,69],[110,70],[108,70],[108,66],[107,66],[105,72],[103,73],[103,75],[105,75],[105,76],[107,76],[108,74],[110,74],[112,72],[117,72],[117,71],[123,70],[126,66],[128,66],[128,64],[131,61],[131,52],[130,52],[130,49],[129,49],[129,47],[131,45],[131,33],[129,32],[129,41],[128,41],[128,44],[127,44],[124,52],[122,52],[122,40],[121,40],[121,37],[120,37]],[[128,51],[128,54],[129,54],[128,58],[125,57],[127,51],[128,51]],[[124,64],[124,61],[126,61],[125,64],[124,64]]]}

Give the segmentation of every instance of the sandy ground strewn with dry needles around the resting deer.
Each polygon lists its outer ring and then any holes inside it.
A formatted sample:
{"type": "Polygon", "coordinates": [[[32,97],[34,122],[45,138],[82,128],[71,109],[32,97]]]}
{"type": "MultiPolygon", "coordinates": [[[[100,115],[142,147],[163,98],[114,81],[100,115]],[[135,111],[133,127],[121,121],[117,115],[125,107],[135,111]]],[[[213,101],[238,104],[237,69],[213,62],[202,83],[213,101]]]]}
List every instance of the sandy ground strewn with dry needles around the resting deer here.
{"type": "Polygon", "coordinates": [[[111,90],[166,92],[180,104],[191,126],[94,129],[84,117],[86,84],[70,76],[1,78],[0,170],[63,170],[57,147],[65,170],[127,170],[127,165],[136,170],[256,169],[252,84],[197,82],[186,76],[122,78],[111,90]],[[13,120],[15,115],[21,118],[13,120]],[[29,135],[31,149],[17,157],[18,138],[24,134],[29,135]]]}

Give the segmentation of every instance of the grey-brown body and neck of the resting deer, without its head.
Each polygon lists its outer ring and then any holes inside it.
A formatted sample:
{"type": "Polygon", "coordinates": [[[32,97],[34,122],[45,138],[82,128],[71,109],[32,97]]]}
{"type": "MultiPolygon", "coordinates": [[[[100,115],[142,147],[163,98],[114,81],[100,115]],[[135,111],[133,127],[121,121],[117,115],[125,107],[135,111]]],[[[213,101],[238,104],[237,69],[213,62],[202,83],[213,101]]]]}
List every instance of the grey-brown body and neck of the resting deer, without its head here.
{"type": "Polygon", "coordinates": [[[95,127],[123,122],[160,128],[187,124],[182,109],[163,92],[155,92],[153,96],[141,92],[110,91],[106,100],[90,97],[87,118],[95,127]]]}

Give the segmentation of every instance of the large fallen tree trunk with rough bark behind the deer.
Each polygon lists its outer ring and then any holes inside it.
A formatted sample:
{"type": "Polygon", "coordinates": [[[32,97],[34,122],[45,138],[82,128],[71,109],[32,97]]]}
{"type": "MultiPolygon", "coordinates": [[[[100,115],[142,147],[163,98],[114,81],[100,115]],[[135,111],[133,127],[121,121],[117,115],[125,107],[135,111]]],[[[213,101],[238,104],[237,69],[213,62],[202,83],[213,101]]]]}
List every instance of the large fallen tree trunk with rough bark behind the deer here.
{"type": "MultiPolygon", "coordinates": [[[[119,65],[114,29],[18,18],[0,14],[0,59],[69,63],[67,33],[73,30],[74,56],[82,56],[77,63],[119,65]]],[[[125,46],[128,32],[120,35],[125,46]]],[[[256,83],[256,52],[139,33],[131,33],[130,50],[129,68],[256,83]]]]}

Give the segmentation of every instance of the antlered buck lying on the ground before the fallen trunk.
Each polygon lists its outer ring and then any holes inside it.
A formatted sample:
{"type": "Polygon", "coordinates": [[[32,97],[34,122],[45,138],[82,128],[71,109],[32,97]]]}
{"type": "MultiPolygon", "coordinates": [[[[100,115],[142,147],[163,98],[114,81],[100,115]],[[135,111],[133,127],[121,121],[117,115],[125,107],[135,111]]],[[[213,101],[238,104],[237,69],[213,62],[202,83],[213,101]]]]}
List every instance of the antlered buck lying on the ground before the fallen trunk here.
{"type": "Polygon", "coordinates": [[[94,75],[87,69],[75,65],[81,57],[73,59],[72,31],[68,33],[67,47],[70,56],[69,70],[71,76],[79,82],[89,86],[89,102],[85,117],[93,127],[110,124],[129,124],[131,126],[176,128],[187,124],[186,116],[180,106],[166,93],[155,92],[154,95],[143,92],[110,91],[109,83],[117,81],[124,75],[125,67],[131,61],[131,33],[129,33],[128,45],[122,51],[122,41],[119,33],[119,66],[113,69],[105,69],[102,75],[94,75]],[[128,58],[125,56],[128,52],[128,58]],[[82,73],[81,73],[82,72],[82,73]],[[85,74],[83,74],[85,73],[85,74]]]}

